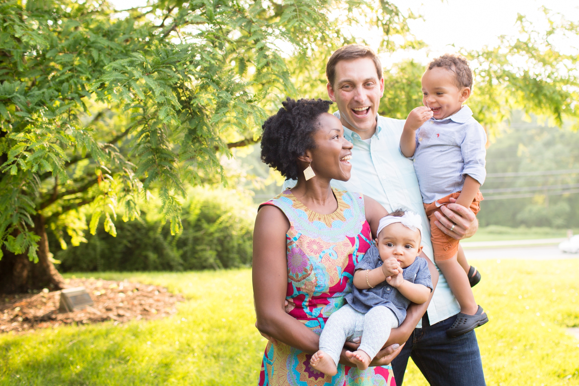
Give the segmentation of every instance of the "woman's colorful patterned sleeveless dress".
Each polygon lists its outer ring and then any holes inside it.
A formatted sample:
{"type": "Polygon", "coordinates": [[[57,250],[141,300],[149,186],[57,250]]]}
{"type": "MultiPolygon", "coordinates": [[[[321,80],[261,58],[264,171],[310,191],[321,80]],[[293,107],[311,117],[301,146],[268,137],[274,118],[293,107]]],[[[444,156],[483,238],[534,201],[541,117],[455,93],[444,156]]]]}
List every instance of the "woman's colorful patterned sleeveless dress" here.
{"type": "MultiPolygon", "coordinates": [[[[333,190],[338,209],[329,215],[306,208],[290,190],[262,204],[275,205],[290,220],[285,312],[317,334],[329,315],[345,304],[344,297],[352,291],[354,266],[371,246],[364,197],[333,190]]],[[[313,369],[310,358],[312,355],[284,343],[267,343],[259,385],[395,386],[391,366],[361,371],[338,364],[338,374],[332,377],[313,369]]]]}

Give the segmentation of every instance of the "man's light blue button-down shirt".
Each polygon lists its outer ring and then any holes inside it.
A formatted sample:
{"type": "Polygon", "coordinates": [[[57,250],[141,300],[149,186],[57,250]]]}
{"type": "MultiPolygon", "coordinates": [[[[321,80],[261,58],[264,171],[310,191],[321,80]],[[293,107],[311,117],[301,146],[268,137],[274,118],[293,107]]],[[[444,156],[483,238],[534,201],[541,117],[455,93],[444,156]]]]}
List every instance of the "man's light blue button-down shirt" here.
{"type": "MultiPolygon", "coordinates": [[[[338,118],[339,112],[334,113],[338,118]]],[[[368,144],[349,128],[344,127],[344,137],[354,144],[352,149],[352,172],[349,181],[332,180],[334,188],[360,192],[374,198],[388,212],[405,207],[422,216],[422,244],[424,254],[432,260],[433,249],[430,242],[430,223],[424,212],[422,196],[412,160],[400,152],[400,136],[404,120],[377,117],[376,133],[368,144]]],[[[285,181],[283,190],[295,186],[295,180],[285,181]]],[[[436,263],[435,263],[436,264],[436,263]]],[[[438,270],[439,279],[433,299],[428,305],[428,320],[431,325],[460,312],[459,303],[452,295],[448,284],[438,270]]],[[[422,327],[422,321],[417,328],[422,327]]]]}

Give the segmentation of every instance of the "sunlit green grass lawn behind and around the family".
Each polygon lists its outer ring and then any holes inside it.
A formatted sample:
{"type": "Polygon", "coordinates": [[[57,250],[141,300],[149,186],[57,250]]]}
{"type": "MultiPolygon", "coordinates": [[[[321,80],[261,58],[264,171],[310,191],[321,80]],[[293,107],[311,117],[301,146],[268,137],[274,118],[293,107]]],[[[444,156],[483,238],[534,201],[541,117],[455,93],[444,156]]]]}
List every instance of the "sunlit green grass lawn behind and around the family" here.
{"type": "MultiPolygon", "coordinates": [[[[579,259],[473,263],[490,319],[477,330],[487,383],[579,385],[579,340],[565,333],[579,326],[579,259]]],[[[256,383],[265,341],[254,328],[250,270],[95,276],[164,285],[188,301],[159,321],[0,334],[0,384],[256,383]]],[[[404,385],[426,381],[411,365],[404,385]]]]}

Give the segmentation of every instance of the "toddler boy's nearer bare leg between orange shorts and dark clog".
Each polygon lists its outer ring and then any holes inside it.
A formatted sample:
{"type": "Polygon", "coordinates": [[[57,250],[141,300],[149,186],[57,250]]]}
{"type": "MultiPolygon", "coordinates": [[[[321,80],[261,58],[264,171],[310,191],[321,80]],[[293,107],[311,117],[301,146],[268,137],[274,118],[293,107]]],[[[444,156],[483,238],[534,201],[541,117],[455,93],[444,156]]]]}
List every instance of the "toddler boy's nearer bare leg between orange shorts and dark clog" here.
{"type": "Polygon", "coordinates": [[[450,290],[460,304],[460,312],[474,315],[478,311],[477,302],[474,300],[467,273],[457,261],[457,255],[448,260],[436,260],[438,268],[444,274],[450,290]]]}

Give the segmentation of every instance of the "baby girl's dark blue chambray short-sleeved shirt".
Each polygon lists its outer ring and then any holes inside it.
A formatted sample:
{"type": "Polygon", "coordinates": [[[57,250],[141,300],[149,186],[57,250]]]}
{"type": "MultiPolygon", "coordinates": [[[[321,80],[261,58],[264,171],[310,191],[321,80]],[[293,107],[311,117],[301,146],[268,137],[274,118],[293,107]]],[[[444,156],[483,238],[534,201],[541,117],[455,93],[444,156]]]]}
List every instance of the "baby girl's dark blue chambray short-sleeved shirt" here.
{"type": "MultiPolygon", "coordinates": [[[[382,267],[382,264],[383,262],[382,259],[380,259],[378,247],[372,245],[364,255],[364,258],[356,264],[356,269],[373,270],[382,267]]],[[[414,262],[403,269],[403,271],[402,276],[404,280],[425,285],[430,288],[430,291],[433,290],[433,282],[430,277],[430,270],[428,270],[426,259],[416,258],[414,262]]],[[[401,325],[404,319],[406,319],[406,308],[408,308],[411,303],[398,289],[388,284],[386,280],[373,288],[358,289],[356,286],[353,286],[352,292],[346,295],[345,299],[354,310],[364,314],[372,307],[387,307],[392,310],[398,318],[398,325],[401,325]]]]}

